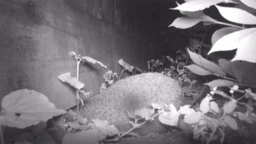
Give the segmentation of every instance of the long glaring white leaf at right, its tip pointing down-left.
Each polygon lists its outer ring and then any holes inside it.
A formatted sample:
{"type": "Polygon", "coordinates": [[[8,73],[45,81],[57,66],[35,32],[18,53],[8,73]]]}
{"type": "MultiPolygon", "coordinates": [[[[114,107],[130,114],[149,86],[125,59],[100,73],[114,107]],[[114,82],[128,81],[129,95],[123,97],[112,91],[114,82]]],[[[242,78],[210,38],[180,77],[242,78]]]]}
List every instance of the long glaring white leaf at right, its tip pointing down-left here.
{"type": "Polygon", "coordinates": [[[237,49],[241,40],[251,33],[255,33],[255,31],[256,28],[249,28],[225,35],[212,46],[212,49],[208,54],[216,51],[231,51],[237,49]]]}

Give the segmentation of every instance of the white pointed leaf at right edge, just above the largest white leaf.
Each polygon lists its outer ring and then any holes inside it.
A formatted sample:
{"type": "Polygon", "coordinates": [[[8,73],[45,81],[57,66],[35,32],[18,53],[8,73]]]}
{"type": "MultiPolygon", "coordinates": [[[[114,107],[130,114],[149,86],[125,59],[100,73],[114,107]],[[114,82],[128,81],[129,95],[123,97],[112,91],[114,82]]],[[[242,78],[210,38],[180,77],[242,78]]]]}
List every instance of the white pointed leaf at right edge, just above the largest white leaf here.
{"type": "Polygon", "coordinates": [[[217,5],[215,6],[219,10],[222,17],[231,22],[236,22],[239,24],[256,24],[256,17],[245,10],[217,5]]]}

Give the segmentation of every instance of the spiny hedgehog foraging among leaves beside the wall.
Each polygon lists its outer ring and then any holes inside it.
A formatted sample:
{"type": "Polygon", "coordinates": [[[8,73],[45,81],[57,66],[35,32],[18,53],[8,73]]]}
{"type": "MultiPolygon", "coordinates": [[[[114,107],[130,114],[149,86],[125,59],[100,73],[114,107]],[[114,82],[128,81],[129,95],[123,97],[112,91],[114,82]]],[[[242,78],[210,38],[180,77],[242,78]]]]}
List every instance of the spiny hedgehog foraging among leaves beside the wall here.
{"type": "MultiPolygon", "coordinates": [[[[93,118],[108,120],[109,124],[115,125],[119,131],[127,131],[132,127],[127,111],[132,115],[136,109],[148,108],[153,102],[160,106],[170,103],[177,108],[181,106],[182,88],[179,81],[157,72],[125,77],[86,100],[83,114],[89,122],[93,118]]],[[[136,132],[147,134],[166,131],[160,122],[143,127],[145,128],[141,127],[136,132]]]]}

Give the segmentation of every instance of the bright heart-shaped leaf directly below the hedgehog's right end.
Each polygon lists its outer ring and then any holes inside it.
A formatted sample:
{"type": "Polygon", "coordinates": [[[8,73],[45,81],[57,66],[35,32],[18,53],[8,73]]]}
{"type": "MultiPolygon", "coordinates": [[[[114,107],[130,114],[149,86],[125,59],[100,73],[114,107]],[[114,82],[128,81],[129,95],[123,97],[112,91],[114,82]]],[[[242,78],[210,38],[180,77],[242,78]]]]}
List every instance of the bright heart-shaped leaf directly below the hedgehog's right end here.
{"type": "Polygon", "coordinates": [[[170,104],[169,110],[168,112],[160,113],[158,119],[163,124],[177,127],[180,113],[173,104],[170,104]]]}

